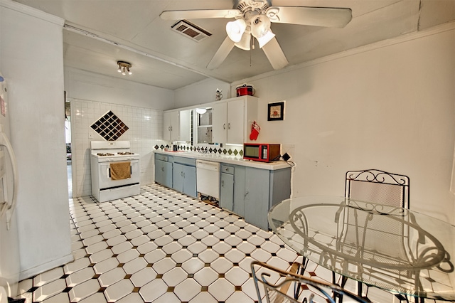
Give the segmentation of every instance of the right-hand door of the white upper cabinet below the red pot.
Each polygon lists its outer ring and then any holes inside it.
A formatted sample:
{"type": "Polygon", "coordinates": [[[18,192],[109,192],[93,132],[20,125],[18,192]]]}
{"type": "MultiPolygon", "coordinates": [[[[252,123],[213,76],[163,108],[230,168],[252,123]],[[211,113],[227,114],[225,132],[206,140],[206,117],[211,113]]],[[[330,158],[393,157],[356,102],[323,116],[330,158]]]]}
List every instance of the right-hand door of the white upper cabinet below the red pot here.
{"type": "Polygon", "coordinates": [[[226,143],[243,144],[245,126],[245,100],[228,102],[228,140],[226,143]]]}

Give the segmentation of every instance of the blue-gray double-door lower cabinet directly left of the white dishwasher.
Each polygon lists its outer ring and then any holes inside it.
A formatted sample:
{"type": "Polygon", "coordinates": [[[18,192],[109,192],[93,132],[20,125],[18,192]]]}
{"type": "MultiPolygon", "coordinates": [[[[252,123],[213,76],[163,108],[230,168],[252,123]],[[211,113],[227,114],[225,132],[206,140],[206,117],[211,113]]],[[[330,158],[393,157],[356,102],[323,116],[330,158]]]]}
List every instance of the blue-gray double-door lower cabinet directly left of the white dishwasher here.
{"type": "Polygon", "coordinates": [[[172,188],[188,196],[197,197],[196,160],[175,156],[173,159],[172,188]]]}

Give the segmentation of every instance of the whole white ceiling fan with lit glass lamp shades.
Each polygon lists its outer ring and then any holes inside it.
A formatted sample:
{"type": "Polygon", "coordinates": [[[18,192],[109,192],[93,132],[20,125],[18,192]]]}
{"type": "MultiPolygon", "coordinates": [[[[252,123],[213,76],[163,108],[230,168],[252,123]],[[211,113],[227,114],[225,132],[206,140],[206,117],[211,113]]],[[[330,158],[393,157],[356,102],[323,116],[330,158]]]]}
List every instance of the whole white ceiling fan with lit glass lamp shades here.
{"type": "Polygon", "coordinates": [[[352,18],[351,10],[311,6],[272,6],[271,0],[232,0],[233,9],[203,9],[187,11],[163,11],[164,20],[235,18],[226,24],[228,37],[218,48],[207,68],[214,70],[228,57],[234,46],[250,50],[256,38],[259,48],[275,70],[284,68],[289,62],[270,29],[271,22],[307,26],[343,28],[352,18]]]}

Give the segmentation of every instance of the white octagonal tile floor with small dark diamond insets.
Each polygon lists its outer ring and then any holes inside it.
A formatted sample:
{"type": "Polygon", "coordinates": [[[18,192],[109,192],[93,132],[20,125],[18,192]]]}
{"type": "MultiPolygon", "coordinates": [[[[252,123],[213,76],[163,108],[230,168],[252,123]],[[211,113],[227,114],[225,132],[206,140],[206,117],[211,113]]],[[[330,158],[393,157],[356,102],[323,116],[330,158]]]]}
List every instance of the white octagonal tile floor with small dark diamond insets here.
{"type": "MultiPolygon", "coordinates": [[[[27,303],[257,302],[252,260],[301,260],[273,233],[157,184],[105,203],[70,199],[70,215],[75,261],[21,281],[27,303]]],[[[314,263],[308,272],[331,280],[314,263]]]]}

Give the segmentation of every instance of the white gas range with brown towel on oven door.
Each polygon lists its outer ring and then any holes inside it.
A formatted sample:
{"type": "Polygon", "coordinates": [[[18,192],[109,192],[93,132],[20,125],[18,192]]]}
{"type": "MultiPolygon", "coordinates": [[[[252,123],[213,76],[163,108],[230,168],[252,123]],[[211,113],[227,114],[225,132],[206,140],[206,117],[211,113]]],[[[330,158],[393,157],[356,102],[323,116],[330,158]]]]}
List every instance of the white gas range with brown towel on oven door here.
{"type": "Polygon", "coordinates": [[[90,142],[92,196],[105,202],[139,195],[139,154],[130,151],[129,141],[90,142]]]}

